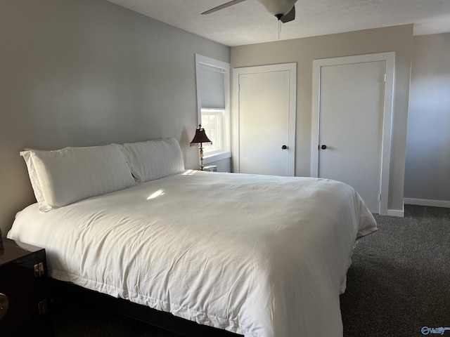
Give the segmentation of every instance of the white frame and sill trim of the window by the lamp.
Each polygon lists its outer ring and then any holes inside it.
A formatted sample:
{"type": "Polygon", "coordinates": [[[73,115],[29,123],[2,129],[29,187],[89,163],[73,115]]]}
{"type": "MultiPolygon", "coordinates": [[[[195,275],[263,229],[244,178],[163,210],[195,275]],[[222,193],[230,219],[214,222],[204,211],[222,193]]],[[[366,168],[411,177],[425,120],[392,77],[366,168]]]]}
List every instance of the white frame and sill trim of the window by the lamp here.
{"type": "MultiPolygon", "coordinates": [[[[224,112],[222,114],[221,149],[208,152],[204,149],[203,163],[210,164],[213,161],[231,158],[231,102],[230,102],[230,64],[227,62],[208,58],[200,54],[195,54],[195,77],[197,86],[197,119],[198,124],[202,124],[202,100],[200,93],[200,65],[213,67],[224,74],[224,112]]],[[[212,107],[203,107],[204,110],[219,110],[212,107]]]]}

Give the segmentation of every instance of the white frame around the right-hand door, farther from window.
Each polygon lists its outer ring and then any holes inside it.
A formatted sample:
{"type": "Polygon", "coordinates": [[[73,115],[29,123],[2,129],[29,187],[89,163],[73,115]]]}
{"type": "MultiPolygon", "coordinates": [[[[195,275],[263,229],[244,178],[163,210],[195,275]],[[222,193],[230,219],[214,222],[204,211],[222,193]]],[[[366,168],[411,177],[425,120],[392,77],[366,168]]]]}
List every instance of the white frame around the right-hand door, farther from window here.
{"type": "Polygon", "coordinates": [[[333,65],[385,61],[385,97],[383,111],[383,136],[381,144],[380,215],[387,215],[391,157],[392,110],[394,106],[395,52],[326,58],[313,61],[312,118],[311,118],[311,177],[319,176],[319,126],[321,99],[321,68],[333,65]]]}

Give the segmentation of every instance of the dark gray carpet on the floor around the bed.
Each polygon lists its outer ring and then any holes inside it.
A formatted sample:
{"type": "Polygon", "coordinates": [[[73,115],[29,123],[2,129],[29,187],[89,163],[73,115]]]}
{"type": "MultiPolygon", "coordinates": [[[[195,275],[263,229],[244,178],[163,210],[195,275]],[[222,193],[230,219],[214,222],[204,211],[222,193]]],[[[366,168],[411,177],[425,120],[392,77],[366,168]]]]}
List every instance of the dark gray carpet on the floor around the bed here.
{"type": "MultiPolygon", "coordinates": [[[[450,327],[450,209],[406,205],[405,218],[376,220],[378,232],[356,245],[340,296],[344,336],[423,336],[423,326],[450,327]]],[[[55,311],[56,337],[177,336],[74,303],[55,311]]]]}

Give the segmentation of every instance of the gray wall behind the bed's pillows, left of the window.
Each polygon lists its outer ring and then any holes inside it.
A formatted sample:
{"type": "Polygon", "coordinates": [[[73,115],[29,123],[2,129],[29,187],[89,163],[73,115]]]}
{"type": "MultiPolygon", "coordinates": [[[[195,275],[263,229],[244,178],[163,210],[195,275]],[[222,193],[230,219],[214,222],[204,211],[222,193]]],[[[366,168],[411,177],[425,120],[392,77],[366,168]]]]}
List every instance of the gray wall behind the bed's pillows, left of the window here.
{"type": "Polygon", "coordinates": [[[23,147],[173,136],[186,169],[197,126],[195,53],[229,47],[106,0],[0,1],[0,226],[34,202],[23,147]]]}

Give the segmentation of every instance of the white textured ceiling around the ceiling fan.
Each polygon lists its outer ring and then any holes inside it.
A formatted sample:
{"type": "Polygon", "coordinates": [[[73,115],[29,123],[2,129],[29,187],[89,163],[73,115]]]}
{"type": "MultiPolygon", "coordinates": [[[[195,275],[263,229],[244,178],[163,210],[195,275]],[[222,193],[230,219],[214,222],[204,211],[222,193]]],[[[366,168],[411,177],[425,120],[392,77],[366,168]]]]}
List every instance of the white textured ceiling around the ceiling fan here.
{"type": "Polygon", "coordinates": [[[414,24],[414,35],[450,32],[450,0],[298,0],[281,25],[257,0],[200,15],[229,0],[108,0],[226,46],[414,24]]]}

